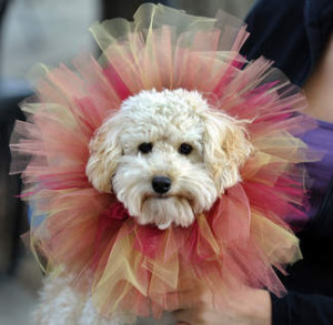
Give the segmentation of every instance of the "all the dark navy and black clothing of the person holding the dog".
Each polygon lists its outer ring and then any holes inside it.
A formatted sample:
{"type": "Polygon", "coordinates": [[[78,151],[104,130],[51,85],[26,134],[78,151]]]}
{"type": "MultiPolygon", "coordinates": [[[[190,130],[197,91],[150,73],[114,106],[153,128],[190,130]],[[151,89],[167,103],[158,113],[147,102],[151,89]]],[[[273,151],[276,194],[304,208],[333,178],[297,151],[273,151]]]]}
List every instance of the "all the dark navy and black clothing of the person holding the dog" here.
{"type": "MultiPolygon", "coordinates": [[[[249,60],[264,55],[275,61],[275,67],[302,87],[333,31],[333,0],[260,0],[246,23],[251,35],[242,53],[249,60]]],[[[333,132],[327,141],[332,139],[333,132]]],[[[332,174],[317,213],[297,234],[304,258],[289,268],[289,276],[281,277],[289,293],[283,298],[272,295],[273,325],[333,324],[332,174]]]]}

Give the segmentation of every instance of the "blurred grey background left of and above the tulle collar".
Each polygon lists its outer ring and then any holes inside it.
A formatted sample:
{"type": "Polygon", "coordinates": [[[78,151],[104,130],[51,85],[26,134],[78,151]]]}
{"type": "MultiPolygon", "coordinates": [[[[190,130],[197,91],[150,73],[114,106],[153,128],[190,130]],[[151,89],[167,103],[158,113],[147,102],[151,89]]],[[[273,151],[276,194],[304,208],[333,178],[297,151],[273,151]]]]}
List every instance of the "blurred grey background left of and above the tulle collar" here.
{"type": "MultiPolygon", "coordinates": [[[[9,176],[8,141],[18,103],[33,91],[24,77],[42,62],[69,63],[95,51],[88,28],[107,18],[130,19],[144,1],[0,0],[0,325],[30,325],[42,274],[20,235],[28,231],[27,209],[16,195],[20,179],[9,176]]],[[[254,0],[170,0],[189,13],[214,17],[219,9],[244,18],[254,0]]]]}

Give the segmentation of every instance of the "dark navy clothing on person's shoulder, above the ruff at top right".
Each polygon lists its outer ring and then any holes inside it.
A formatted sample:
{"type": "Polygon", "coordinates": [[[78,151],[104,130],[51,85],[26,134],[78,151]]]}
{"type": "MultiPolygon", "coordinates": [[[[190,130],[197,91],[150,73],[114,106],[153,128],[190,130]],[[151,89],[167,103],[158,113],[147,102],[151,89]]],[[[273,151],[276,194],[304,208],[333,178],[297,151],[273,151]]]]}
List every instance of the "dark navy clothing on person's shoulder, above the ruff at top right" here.
{"type": "Polygon", "coordinates": [[[260,0],[250,11],[242,48],[249,60],[264,55],[293,83],[303,85],[333,28],[332,0],[260,0]]]}

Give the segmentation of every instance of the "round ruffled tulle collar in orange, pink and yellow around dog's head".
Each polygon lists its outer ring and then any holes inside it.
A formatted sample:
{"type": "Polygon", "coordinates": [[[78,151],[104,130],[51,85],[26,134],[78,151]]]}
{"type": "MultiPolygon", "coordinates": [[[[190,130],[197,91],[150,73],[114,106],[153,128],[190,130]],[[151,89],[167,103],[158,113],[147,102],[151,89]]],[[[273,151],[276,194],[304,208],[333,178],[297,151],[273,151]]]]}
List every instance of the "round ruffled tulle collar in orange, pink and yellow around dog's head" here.
{"type": "Polygon", "coordinates": [[[283,294],[273,268],[283,272],[301,257],[291,225],[305,216],[301,163],[315,159],[297,139],[314,126],[302,115],[303,95],[268,60],[239,54],[248,32],[225,13],[206,19],[143,4],[133,22],[105,21],[91,31],[100,61],[80,57],[75,72],[43,67],[11,144],[12,172],[22,172],[22,197],[33,209],[31,242],[48,271],[73,276],[105,316],[158,317],[178,307],[189,280],[211,291],[215,307],[228,298],[224,288],[283,294]],[[214,109],[252,121],[255,153],[243,181],[188,228],[137,224],[85,176],[94,131],[124,99],[152,88],[196,90],[214,109]]]}

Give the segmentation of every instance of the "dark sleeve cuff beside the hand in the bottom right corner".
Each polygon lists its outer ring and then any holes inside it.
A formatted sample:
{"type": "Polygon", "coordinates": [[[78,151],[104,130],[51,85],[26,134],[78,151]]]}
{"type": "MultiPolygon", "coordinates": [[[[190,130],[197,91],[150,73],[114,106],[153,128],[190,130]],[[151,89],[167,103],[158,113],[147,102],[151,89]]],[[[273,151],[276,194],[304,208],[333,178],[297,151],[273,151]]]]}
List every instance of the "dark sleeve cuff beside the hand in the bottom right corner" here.
{"type": "Polygon", "coordinates": [[[289,292],[278,298],[271,294],[272,325],[332,325],[333,298],[289,292]]]}

